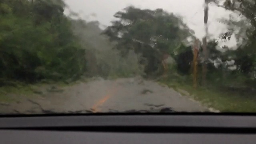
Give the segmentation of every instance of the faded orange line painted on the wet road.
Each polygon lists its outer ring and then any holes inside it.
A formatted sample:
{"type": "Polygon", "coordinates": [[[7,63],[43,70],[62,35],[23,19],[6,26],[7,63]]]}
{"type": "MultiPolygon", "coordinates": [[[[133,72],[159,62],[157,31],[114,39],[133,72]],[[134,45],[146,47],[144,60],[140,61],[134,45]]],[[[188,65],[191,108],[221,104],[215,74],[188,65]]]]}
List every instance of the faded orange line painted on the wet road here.
{"type": "Polygon", "coordinates": [[[108,90],[107,94],[92,106],[92,110],[94,113],[99,112],[98,107],[104,104],[104,102],[106,102],[110,97],[112,97],[116,93],[116,91],[118,90],[116,84],[117,82],[115,81],[114,84],[112,85],[112,88],[108,90]]]}

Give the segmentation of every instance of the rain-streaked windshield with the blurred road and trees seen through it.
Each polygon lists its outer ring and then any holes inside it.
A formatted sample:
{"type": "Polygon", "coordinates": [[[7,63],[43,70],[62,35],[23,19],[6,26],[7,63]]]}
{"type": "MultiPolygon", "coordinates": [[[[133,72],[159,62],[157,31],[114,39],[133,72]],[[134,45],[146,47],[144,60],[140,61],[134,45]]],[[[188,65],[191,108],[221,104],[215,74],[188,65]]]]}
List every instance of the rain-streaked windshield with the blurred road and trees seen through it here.
{"type": "Polygon", "coordinates": [[[256,112],[255,0],[1,0],[0,114],[256,112]]]}

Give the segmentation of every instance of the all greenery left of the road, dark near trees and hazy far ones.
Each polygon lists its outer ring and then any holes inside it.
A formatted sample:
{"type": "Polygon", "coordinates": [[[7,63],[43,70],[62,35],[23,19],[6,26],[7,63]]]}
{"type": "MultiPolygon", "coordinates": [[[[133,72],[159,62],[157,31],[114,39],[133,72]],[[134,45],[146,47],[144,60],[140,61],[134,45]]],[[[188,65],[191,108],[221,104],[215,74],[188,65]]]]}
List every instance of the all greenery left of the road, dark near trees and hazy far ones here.
{"type": "Polygon", "coordinates": [[[44,85],[70,86],[92,77],[141,74],[137,55],[126,58],[97,21],[64,14],[63,0],[0,1],[0,96],[33,94],[44,85]]]}

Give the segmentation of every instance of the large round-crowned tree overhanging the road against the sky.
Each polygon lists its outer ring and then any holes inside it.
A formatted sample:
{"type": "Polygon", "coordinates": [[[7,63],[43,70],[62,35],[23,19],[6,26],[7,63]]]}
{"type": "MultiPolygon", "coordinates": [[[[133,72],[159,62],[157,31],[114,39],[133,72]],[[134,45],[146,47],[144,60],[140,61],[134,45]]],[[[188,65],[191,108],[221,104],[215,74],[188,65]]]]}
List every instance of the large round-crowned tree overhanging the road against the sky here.
{"type": "Polygon", "coordinates": [[[116,42],[115,48],[123,56],[129,50],[142,54],[142,58],[146,59],[147,74],[158,69],[163,54],[174,56],[174,49],[193,36],[193,31],[180,17],[162,9],[141,10],[129,6],[114,17],[118,20],[112,21],[103,34],[109,36],[111,42],[116,42]]]}

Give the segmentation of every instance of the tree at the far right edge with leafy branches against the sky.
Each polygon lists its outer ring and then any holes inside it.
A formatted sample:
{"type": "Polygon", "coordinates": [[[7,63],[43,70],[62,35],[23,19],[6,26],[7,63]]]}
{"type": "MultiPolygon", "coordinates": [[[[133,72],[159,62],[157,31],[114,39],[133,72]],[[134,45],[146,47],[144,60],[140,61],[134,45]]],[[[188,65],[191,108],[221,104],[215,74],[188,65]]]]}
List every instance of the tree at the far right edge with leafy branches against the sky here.
{"type": "Polygon", "coordinates": [[[256,59],[256,1],[255,0],[226,0],[223,5],[214,1],[217,6],[230,10],[237,14],[238,20],[230,17],[229,20],[222,20],[228,23],[229,31],[222,35],[222,39],[230,38],[235,30],[238,49],[236,50],[235,64],[238,72],[250,74],[255,72],[256,59]]]}

